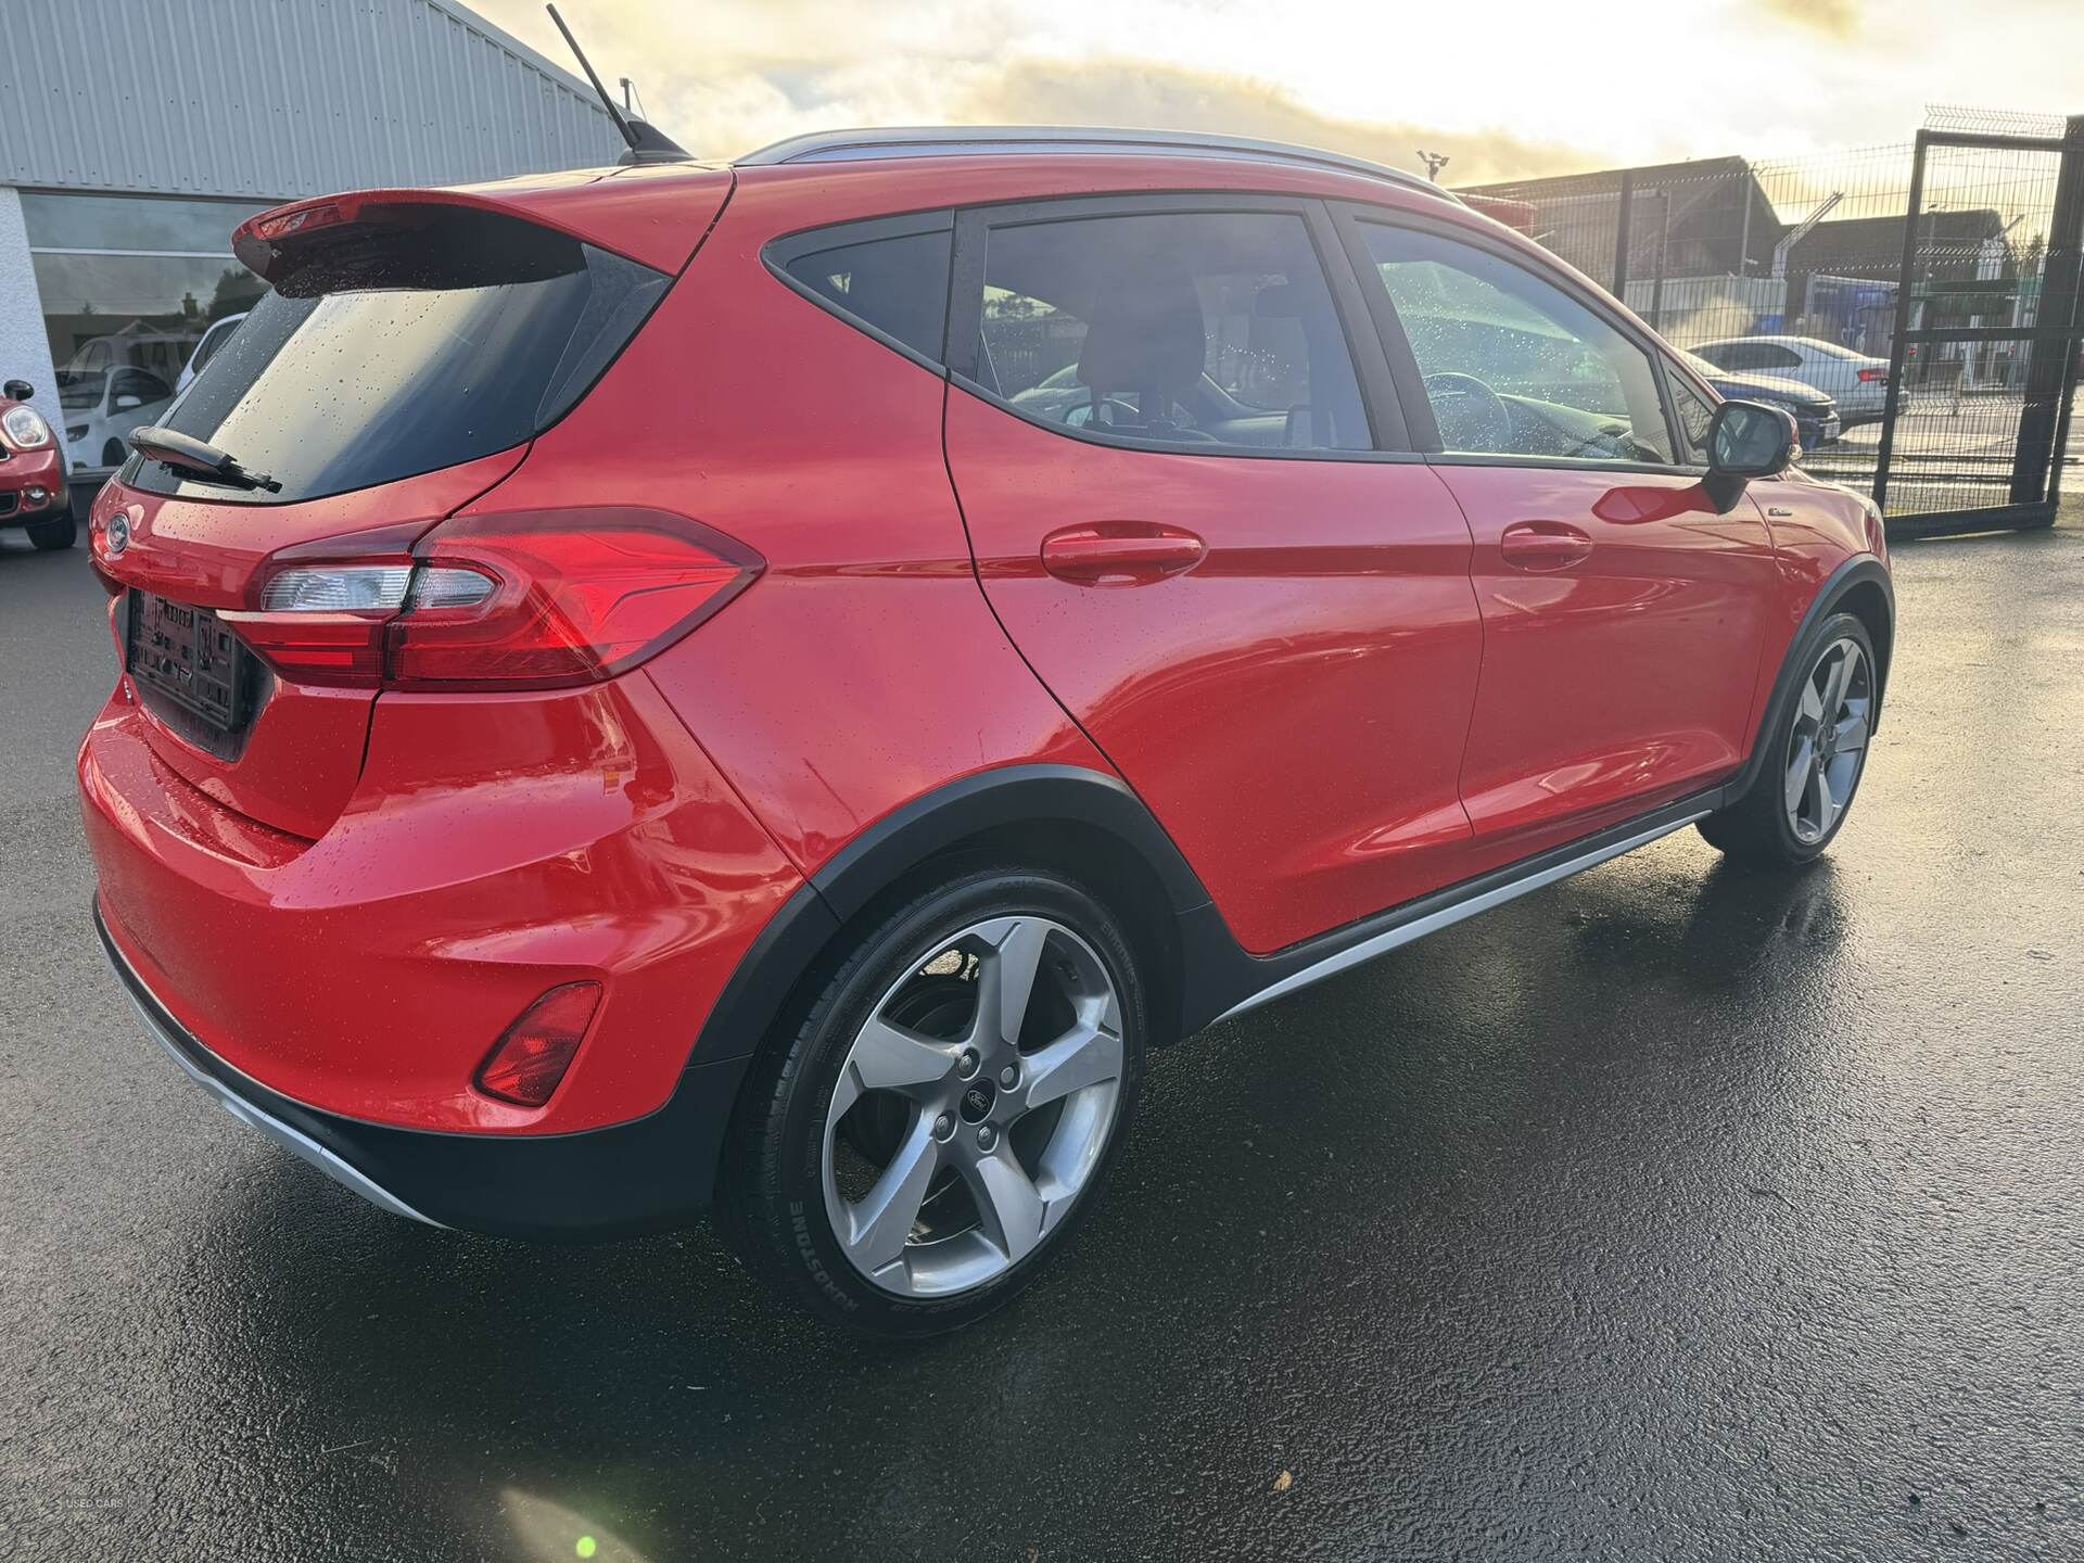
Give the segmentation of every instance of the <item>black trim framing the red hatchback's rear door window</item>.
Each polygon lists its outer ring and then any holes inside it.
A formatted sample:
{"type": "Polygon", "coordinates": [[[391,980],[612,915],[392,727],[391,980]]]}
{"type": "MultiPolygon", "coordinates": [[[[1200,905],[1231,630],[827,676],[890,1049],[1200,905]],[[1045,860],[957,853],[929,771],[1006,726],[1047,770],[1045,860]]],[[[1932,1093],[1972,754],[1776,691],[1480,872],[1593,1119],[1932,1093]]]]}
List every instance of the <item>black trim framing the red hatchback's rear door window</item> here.
{"type": "Polygon", "coordinates": [[[1042,200],[1011,200],[963,206],[954,213],[954,265],[948,271],[948,379],[952,386],[990,402],[1000,413],[1011,413],[1023,423],[1065,440],[1100,446],[1105,450],[1142,450],[1155,456],[1209,456],[1217,461],[1359,461],[1359,463],[1417,463],[1425,456],[1411,444],[1396,386],[1390,377],[1388,361],[1382,354],[1382,340],[1367,317],[1365,296],[1353,275],[1344,246],[1332,225],[1325,204],[1313,196],[1277,196],[1257,192],[1152,192],[1136,196],[1061,196],[1042,200]],[[1161,215],[1240,215],[1271,213],[1298,217],[1309,238],[1311,252],[1332,294],[1332,311],[1338,319],[1340,336],[1346,344],[1346,358],[1361,394],[1361,408],[1367,417],[1371,448],[1367,450],[1292,450],[1286,446],[1211,446],[1211,444],[1165,444],[1157,440],[1121,440],[1090,429],[1073,429],[1065,423],[1040,419],[994,388],[979,375],[977,348],[984,329],[984,260],[994,227],[1027,227],[1034,223],[1069,223],[1088,217],[1161,217],[1161,215]]]}

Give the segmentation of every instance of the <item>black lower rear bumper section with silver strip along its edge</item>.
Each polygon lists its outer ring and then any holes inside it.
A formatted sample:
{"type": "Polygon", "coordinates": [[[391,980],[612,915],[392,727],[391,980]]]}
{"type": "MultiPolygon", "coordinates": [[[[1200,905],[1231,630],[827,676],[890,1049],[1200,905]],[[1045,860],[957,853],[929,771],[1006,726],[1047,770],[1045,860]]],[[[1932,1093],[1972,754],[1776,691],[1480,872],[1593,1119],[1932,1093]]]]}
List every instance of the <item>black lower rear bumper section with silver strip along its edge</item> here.
{"type": "Polygon", "coordinates": [[[240,1073],[194,1038],[94,927],[140,1019],[231,1117],[377,1209],[513,1238],[604,1238],[686,1225],[709,1205],[748,1059],[690,1067],[656,1113],[584,1134],[436,1134],[323,1113],[240,1073]]]}

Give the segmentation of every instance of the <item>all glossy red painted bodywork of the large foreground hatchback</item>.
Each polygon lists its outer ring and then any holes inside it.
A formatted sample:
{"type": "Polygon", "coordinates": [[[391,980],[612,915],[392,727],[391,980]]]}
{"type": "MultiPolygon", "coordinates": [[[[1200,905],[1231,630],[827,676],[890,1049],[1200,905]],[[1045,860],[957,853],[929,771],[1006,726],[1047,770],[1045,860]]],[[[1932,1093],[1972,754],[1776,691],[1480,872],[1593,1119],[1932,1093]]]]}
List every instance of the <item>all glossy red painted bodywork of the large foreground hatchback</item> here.
{"type": "MultiPolygon", "coordinates": [[[[1719,508],[1680,475],[1113,448],[950,388],[763,258],[854,219],[1144,190],[1423,210],[1557,265],[1423,192],[1209,156],[367,196],[508,210],[677,281],[521,448],[300,504],[110,483],[92,536],[115,588],[240,611],[283,550],[398,552],[448,517],[586,506],[671,511],[761,571],[584,688],[277,677],[231,761],[125,675],[79,754],[119,957],[202,1048],[292,1102],[548,1142],[656,1121],[696,1067],[742,1061],[759,1036],[711,1025],[734,984],[771,986],[777,942],[829,942],[846,909],[825,882],[850,848],[965,779],[1044,765],[1134,790],[1205,890],[1175,907],[1213,900],[1202,934],[1271,969],[1250,957],[1740,771],[1824,581],[1880,552],[1840,490],[1790,475],[1719,508]],[[1592,550],[1528,569],[1507,534],[1530,525],[1592,550]],[[1044,565],[1067,529],[1200,548],[1136,584],[1073,579],[1044,565]],[[567,982],[604,1000],[548,1105],[475,1090],[504,1029],[567,982]]],[[[275,250],[248,233],[242,256],[275,250]]],[[[729,1100],[711,1109],[721,1125],[729,1100]]]]}

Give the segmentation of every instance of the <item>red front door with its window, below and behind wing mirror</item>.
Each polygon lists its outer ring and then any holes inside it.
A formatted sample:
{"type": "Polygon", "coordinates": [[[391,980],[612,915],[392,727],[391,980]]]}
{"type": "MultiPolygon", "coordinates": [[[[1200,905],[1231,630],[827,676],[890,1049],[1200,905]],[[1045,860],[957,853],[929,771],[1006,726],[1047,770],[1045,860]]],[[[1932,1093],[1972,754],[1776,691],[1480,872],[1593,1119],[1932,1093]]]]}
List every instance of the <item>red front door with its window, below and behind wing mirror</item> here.
{"type": "Polygon", "coordinates": [[[1738,769],[1771,538],[1676,458],[1648,340],[1507,240],[1367,208],[1342,233],[1475,540],[1484,669],[1461,796],[1484,867],[1738,769]]]}

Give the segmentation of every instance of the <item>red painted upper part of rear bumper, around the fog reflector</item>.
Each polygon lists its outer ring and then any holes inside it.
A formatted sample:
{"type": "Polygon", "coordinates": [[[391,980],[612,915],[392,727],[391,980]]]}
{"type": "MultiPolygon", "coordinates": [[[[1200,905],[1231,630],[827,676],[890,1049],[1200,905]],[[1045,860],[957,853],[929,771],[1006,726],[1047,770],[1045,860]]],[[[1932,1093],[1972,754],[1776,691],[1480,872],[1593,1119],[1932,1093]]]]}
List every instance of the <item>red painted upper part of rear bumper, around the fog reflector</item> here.
{"type": "Polygon", "coordinates": [[[561,1134],[654,1111],[800,884],[642,673],[386,694],[319,842],[190,788],[148,721],[119,692],[79,759],[110,934],[213,1052],[352,1119],[561,1134]],[[548,1107],[471,1090],[521,1011],[581,979],[606,998],[548,1107]]]}

